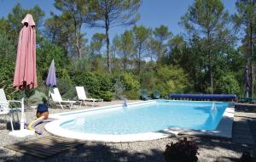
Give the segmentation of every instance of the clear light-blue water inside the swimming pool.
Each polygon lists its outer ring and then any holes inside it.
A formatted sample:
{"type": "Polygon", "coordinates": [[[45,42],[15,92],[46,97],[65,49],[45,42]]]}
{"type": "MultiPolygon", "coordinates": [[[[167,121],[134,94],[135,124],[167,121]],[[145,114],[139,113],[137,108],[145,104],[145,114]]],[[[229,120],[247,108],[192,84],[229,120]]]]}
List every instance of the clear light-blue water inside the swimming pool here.
{"type": "Polygon", "coordinates": [[[84,133],[125,135],[160,131],[169,127],[195,130],[215,130],[228,103],[166,101],[137,104],[127,108],[84,113],[75,120],[61,124],[62,128],[84,133]]]}

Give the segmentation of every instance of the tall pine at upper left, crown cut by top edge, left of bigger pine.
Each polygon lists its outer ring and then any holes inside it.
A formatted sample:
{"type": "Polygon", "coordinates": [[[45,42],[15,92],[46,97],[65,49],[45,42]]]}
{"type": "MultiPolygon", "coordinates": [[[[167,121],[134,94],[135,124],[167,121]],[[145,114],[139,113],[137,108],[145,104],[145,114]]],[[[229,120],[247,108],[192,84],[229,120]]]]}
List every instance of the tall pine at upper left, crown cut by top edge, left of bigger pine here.
{"type": "Polygon", "coordinates": [[[83,36],[82,25],[88,19],[88,5],[87,0],[55,0],[55,8],[61,10],[63,14],[73,20],[73,29],[75,35],[75,44],[79,58],[82,57],[82,42],[83,36]]]}

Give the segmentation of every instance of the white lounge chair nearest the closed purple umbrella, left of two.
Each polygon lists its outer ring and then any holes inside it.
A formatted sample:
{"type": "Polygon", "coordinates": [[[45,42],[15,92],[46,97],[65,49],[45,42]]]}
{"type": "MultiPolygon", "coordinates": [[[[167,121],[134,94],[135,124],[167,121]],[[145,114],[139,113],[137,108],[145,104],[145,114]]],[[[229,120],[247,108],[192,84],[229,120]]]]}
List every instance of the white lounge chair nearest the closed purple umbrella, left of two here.
{"type": "Polygon", "coordinates": [[[50,88],[49,94],[55,103],[59,103],[61,105],[62,109],[64,108],[61,103],[69,103],[70,109],[73,108],[73,103],[77,103],[77,101],[63,100],[57,87],[50,88]]]}

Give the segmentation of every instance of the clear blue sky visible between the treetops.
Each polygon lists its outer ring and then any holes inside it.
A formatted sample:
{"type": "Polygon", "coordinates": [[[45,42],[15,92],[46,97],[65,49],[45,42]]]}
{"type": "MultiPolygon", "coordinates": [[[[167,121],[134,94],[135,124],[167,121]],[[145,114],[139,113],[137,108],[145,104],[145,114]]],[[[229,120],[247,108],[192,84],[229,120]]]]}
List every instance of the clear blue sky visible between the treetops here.
{"type": "MultiPolygon", "coordinates": [[[[23,8],[32,8],[34,5],[38,5],[46,14],[44,19],[49,16],[50,11],[58,13],[53,5],[54,0],[0,0],[0,17],[7,16],[16,3],[20,3],[23,8]]],[[[183,28],[177,23],[192,3],[193,0],[143,0],[143,5],[139,9],[141,19],[137,22],[137,25],[143,24],[151,28],[167,25],[169,31],[172,31],[173,34],[181,33],[183,28]]],[[[230,14],[236,12],[236,0],[223,0],[223,3],[230,14]]],[[[131,27],[112,28],[110,38],[129,28],[131,27]]],[[[86,38],[90,38],[95,32],[104,32],[101,29],[84,28],[83,30],[86,32],[86,38]]]]}

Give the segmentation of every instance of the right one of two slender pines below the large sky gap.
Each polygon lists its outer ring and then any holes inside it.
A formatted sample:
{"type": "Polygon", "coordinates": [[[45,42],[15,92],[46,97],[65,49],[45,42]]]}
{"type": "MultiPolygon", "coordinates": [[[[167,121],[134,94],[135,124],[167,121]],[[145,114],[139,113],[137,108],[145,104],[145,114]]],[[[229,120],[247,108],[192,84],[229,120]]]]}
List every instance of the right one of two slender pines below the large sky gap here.
{"type": "Polygon", "coordinates": [[[150,46],[153,53],[156,55],[157,61],[161,61],[166,53],[167,41],[171,38],[172,32],[168,30],[165,25],[156,27],[153,31],[153,37],[150,42],[150,46]]]}

